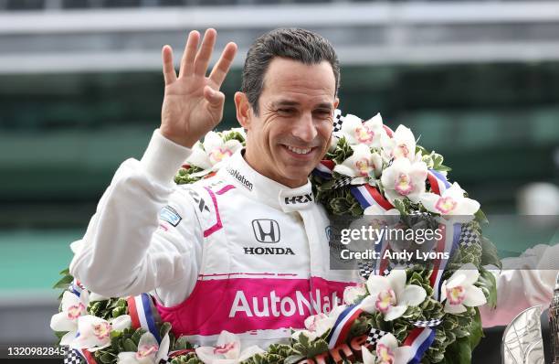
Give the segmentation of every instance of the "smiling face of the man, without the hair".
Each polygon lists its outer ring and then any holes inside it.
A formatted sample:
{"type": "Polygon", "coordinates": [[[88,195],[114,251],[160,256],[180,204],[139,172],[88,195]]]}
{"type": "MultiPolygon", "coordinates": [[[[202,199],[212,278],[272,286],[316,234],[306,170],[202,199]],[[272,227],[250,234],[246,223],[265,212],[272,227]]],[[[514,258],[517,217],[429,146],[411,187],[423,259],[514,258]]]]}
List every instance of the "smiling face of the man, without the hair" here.
{"type": "MultiPolygon", "coordinates": [[[[272,59],[258,116],[249,109],[245,120],[239,118],[248,130],[248,164],[282,185],[302,186],[328,149],[337,105],[330,63],[272,59]]],[[[237,115],[238,108],[239,102],[237,115]]]]}

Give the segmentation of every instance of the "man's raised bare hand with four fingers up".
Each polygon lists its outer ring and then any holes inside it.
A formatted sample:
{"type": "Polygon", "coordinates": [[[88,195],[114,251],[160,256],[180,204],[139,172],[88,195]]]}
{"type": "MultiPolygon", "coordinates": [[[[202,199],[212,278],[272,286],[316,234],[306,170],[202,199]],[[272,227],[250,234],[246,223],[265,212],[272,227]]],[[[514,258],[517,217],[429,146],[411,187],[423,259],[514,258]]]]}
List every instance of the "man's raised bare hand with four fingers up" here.
{"type": "Polygon", "coordinates": [[[216,35],[215,29],[207,29],[198,48],[200,34],[195,30],[190,32],[178,77],[174,71],[173,49],[163,47],[165,94],[160,130],[176,144],[191,147],[223,117],[225,95],[219,88],[235,58],[237,45],[227,43],[214,69],[206,77],[216,35]]]}

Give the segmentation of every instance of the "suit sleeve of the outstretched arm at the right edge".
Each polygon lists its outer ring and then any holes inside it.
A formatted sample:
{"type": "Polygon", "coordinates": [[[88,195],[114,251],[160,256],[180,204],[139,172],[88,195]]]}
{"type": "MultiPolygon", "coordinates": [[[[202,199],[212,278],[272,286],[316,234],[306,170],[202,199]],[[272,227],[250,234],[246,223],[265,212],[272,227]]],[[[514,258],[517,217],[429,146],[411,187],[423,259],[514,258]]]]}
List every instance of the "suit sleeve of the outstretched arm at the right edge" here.
{"type": "Polygon", "coordinates": [[[497,307],[480,307],[483,327],[508,325],[533,305],[546,309],[554,293],[558,267],[559,245],[539,244],[520,257],[503,259],[501,272],[490,270],[497,282],[497,307]]]}

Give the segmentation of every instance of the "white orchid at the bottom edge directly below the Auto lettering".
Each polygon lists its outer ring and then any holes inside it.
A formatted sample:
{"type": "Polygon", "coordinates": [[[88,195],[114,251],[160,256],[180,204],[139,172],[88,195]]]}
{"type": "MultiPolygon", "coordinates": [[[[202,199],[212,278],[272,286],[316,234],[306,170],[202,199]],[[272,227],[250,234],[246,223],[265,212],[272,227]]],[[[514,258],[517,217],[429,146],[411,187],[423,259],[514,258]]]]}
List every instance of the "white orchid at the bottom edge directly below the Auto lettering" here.
{"type": "Polygon", "coordinates": [[[217,337],[217,346],[196,348],[196,355],[206,364],[236,364],[263,353],[264,350],[254,345],[241,351],[240,340],[237,335],[223,330],[217,337]]]}

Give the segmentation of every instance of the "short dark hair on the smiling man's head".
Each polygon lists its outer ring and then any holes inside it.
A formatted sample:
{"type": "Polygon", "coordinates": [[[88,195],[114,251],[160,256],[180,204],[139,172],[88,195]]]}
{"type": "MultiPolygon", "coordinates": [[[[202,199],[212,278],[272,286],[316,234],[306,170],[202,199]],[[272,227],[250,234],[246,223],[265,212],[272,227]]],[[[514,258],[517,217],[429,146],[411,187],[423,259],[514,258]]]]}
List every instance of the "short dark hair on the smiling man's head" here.
{"type": "Polygon", "coordinates": [[[301,28],[280,28],[258,37],[248,49],[241,91],[245,92],[252,110],[258,115],[258,99],[264,87],[264,75],[275,57],[298,60],[314,65],[326,60],[332,66],[336,80],[335,93],[340,87],[340,63],[332,44],[324,37],[301,28]]]}

